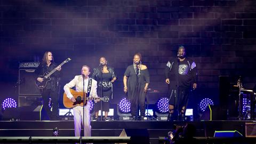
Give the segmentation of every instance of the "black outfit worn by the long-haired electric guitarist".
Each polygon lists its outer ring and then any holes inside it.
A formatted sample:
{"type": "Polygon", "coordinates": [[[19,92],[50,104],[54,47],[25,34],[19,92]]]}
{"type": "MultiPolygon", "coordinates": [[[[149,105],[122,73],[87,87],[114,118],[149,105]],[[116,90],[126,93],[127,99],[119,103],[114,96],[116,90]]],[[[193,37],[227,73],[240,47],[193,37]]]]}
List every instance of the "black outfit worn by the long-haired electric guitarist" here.
{"type": "MultiPolygon", "coordinates": [[[[41,62],[36,68],[35,73],[38,76],[42,76],[44,73],[51,72],[58,65],[56,63],[51,63],[48,67],[45,62],[41,62]]],[[[57,120],[59,117],[59,86],[58,81],[60,79],[60,71],[55,71],[50,76],[51,80],[47,82],[45,88],[42,91],[43,108],[46,110],[47,115],[51,120],[57,120]],[[49,108],[49,98],[51,98],[52,111],[49,108]]],[[[37,77],[36,77],[37,79],[37,77]]],[[[37,81],[37,80],[36,80],[37,81]]]]}

